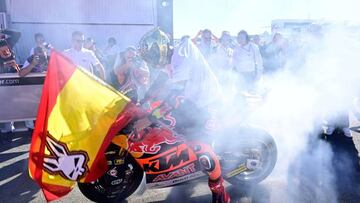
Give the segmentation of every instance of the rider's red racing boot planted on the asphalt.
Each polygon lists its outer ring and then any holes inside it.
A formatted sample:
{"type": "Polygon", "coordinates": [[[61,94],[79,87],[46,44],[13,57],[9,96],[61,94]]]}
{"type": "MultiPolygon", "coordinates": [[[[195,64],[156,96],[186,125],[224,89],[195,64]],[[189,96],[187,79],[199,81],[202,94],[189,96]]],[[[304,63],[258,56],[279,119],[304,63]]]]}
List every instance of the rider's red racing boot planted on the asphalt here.
{"type": "Polygon", "coordinates": [[[230,195],[225,190],[222,177],[216,180],[209,179],[209,187],[212,192],[213,203],[230,203],[230,195]]]}

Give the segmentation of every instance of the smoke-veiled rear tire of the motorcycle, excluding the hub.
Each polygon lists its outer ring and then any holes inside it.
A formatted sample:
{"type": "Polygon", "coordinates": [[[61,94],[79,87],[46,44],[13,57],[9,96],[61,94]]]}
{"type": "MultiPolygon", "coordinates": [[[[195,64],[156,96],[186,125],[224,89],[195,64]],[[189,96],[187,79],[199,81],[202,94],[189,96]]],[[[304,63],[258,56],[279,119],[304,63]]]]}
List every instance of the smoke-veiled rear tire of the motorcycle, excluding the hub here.
{"type": "MultiPolygon", "coordinates": [[[[233,131],[234,132],[234,131],[233,131]]],[[[270,175],[275,167],[277,161],[277,147],[274,138],[265,130],[253,126],[243,127],[238,129],[237,135],[227,137],[227,140],[234,140],[235,142],[226,143],[226,148],[222,150],[223,154],[220,156],[222,171],[224,179],[236,186],[246,186],[257,184],[263,181],[270,175]],[[261,159],[261,169],[255,169],[253,171],[244,171],[237,175],[229,177],[227,174],[234,173],[240,166],[246,165],[244,158],[236,158],[237,152],[242,150],[248,150],[251,153],[251,149],[255,150],[257,157],[261,159]],[[249,150],[250,149],[250,150],[249,150]],[[224,156],[224,152],[231,153],[232,163],[224,156]],[[234,163],[235,161],[235,163],[234,163]],[[230,165],[230,168],[226,169],[226,165],[230,165]]],[[[241,169],[240,169],[241,170],[241,169]]],[[[235,172],[236,173],[236,172],[235,172]]]]}

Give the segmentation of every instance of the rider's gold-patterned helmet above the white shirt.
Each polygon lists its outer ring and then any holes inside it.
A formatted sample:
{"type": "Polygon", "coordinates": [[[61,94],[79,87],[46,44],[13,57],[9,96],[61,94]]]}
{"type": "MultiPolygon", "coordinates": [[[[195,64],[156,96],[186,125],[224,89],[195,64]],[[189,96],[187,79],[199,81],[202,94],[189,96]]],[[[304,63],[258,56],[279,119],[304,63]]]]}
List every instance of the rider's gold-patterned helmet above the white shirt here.
{"type": "Polygon", "coordinates": [[[170,39],[159,28],[147,32],[139,43],[140,55],[153,67],[170,63],[170,39]]]}

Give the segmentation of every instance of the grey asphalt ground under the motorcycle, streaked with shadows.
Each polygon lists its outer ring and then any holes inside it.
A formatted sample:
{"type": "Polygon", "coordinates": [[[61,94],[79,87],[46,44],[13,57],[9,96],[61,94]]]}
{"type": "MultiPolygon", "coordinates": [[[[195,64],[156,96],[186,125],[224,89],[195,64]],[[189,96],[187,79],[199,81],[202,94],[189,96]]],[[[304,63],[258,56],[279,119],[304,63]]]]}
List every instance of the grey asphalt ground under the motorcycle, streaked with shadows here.
{"type": "MultiPolygon", "coordinates": [[[[39,186],[28,175],[30,133],[0,136],[0,202],[45,202],[39,186]]],[[[237,188],[227,185],[232,202],[360,202],[360,175],[352,140],[336,132],[322,141],[309,142],[308,150],[282,177],[271,175],[258,185],[237,188]],[[333,151],[331,170],[322,165],[327,154],[317,149],[326,145],[333,151]],[[327,178],[326,174],[331,174],[327,178]],[[285,178],[284,178],[285,177],[285,178]]],[[[75,188],[56,202],[89,202],[75,188]]],[[[147,190],[127,202],[211,202],[206,182],[174,188],[147,190]]]]}

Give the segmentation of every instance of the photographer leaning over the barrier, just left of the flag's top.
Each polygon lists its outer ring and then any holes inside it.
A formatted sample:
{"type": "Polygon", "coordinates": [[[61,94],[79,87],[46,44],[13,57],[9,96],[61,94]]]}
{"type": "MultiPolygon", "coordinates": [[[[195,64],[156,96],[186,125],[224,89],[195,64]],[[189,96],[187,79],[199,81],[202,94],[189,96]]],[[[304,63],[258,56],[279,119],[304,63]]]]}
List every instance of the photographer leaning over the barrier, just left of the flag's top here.
{"type": "Polygon", "coordinates": [[[49,58],[46,52],[41,47],[34,48],[34,54],[32,54],[24,63],[23,67],[19,71],[19,76],[24,77],[30,72],[41,73],[47,70],[49,58]]]}

